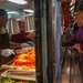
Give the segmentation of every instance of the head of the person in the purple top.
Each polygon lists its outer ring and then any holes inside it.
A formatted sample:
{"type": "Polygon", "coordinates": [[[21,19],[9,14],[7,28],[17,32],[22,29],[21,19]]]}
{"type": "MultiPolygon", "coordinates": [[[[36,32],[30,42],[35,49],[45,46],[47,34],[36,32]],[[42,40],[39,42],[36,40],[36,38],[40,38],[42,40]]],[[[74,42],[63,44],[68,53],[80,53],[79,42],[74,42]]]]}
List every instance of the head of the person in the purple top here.
{"type": "Polygon", "coordinates": [[[80,28],[83,27],[83,11],[80,11],[75,14],[75,22],[80,28]]]}

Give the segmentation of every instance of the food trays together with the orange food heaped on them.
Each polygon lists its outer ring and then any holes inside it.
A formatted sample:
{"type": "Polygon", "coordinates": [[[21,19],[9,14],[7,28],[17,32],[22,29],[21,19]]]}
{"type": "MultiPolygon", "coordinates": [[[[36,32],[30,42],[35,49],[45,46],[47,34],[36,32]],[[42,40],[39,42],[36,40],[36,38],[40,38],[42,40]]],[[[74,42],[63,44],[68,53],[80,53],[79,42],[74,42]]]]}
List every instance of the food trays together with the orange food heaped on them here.
{"type": "Polygon", "coordinates": [[[35,82],[35,50],[24,48],[15,50],[15,56],[0,68],[1,77],[27,80],[35,82]]]}

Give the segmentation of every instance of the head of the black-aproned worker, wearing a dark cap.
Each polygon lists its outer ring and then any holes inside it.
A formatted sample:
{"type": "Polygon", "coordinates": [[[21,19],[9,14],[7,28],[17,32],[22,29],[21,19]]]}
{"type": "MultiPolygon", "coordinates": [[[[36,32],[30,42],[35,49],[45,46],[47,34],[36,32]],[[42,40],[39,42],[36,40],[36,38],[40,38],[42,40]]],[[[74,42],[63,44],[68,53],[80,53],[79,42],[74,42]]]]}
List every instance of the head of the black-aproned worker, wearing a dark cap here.
{"type": "Polygon", "coordinates": [[[0,9],[0,27],[6,27],[8,22],[8,14],[4,9],[0,9]]]}

